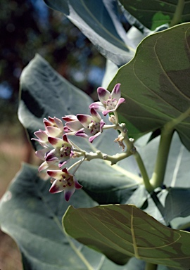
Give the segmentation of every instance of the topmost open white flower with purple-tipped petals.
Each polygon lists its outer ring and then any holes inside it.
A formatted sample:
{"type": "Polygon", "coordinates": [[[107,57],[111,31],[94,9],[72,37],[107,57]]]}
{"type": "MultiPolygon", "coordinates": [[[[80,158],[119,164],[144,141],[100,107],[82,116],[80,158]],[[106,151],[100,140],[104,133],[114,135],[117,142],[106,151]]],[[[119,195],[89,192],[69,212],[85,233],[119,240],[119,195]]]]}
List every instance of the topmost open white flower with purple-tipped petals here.
{"type": "Polygon", "coordinates": [[[89,108],[101,111],[103,115],[114,112],[118,109],[120,104],[125,102],[125,98],[121,98],[120,84],[115,84],[111,93],[103,87],[99,87],[97,92],[99,95],[99,101],[91,103],[89,108]]]}

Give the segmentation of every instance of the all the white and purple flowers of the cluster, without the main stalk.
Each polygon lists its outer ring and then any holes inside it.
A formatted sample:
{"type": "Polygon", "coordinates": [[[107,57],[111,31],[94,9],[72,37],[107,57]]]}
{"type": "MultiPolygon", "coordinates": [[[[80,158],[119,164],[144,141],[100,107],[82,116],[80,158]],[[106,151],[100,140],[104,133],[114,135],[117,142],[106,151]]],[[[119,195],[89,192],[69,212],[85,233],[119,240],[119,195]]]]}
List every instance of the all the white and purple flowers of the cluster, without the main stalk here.
{"type": "MultiPolygon", "coordinates": [[[[99,87],[97,91],[99,102],[89,105],[91,115],[65,115],[62,117],[65,121],[64,125],[63,121],[57,117],[44,118],[45,129],[34,132],[37,139],[32,138],[43,147],[41,150],[37,150],[36,155],[44,161],[39,166],[39,172],[46,170],[47,174],[51,176],[52,185],[49,191],[51,193],[64,191],[67,201],[76,188],[82,188],[74,175],[77,169],[72,174],[70,170],[74,166],[78,168],[85,160],[85,151],[72,143],[68,136],[81,136],[92,143],[96,137],[101,135],[103,129],[115,127],[118,124],[118,117],[115,117],[116,110],[120,104],[125,102],[125,99],[121,98],[120,84],[116,84],[111,93],[103,87],[99,87]],[[109,117],[112,124],[106,125],[98,111],[104,116],[113,113],[109,117]],[[82,160],[75,162],[70,168],[65,167],[70,159],[76,157],[82,157],[82,160]]],[[[121,140],[119,143],[124,148],[121,140]]]]}

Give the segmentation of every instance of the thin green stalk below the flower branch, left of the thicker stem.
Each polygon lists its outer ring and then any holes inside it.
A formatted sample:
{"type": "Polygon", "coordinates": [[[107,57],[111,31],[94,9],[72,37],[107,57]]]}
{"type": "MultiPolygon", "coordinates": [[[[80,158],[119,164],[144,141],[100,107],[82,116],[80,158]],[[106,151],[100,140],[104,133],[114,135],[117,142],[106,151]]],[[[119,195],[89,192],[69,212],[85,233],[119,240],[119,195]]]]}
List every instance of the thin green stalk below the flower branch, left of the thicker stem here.
{"type": "Polygon", "coordinates": [[[149,193],[151,193],[153,191],[153,186],[150,183],[148,174],[146,172],[146,168],[144,166],[144,162],[141,159],[141,155],[139,155],[139,153],[137,151],[134,153],[134,158],[136,159],[137,164],[139,166],[139,169],[141,171],[141,176],[143,178],[144,186],[146,188],[146,191],[148,191],[149,193]]]}

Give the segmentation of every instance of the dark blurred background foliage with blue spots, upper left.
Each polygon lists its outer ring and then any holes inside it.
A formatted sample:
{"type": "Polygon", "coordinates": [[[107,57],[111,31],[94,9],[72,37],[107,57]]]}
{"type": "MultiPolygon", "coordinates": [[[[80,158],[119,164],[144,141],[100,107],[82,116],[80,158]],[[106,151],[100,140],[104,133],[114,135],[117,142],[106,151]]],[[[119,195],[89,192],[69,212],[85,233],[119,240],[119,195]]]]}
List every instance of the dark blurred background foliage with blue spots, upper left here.
{"type": "Polygon", "coordinates": [[[42,0],[1,0],[0,40],[0,122],[17,118],[20,73],[35,53],[89,95],[101,85],[105,58],[42,0]]]}

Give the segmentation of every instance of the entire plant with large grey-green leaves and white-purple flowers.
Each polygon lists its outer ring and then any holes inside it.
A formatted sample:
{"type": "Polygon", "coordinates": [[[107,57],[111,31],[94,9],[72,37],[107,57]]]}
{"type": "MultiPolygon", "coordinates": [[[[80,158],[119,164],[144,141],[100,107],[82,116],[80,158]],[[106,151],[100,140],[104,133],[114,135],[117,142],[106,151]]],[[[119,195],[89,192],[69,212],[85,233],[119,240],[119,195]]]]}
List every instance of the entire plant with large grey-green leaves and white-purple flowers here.
{"type": "Polygon", "coordinates": [[[15,176],[1,229],[27,270],[189,270],[189,1],[45,2],[106,72],[94,102],[39,55],[23,70],[18,116],[43,162],[15,176]]]}

